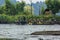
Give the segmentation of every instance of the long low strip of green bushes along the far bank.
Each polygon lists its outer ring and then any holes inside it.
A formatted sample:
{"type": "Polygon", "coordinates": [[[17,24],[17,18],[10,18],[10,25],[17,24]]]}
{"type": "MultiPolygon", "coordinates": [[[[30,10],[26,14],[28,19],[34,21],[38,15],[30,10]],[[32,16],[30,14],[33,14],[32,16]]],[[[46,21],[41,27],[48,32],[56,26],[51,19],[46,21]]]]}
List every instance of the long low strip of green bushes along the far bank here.
{"type": "Polygon", "coordinates": [[[24,21],[24,17],[26,22],[29,22],[29,20],[34,23],[34,20],[37,22],[39,20],[40,22],[44,23],[50,23],[52,22],[51,20],[55,18],[57,21],[60,21],[60,16],[53,16],[53,15],[39,15],[39,16],[33,16],[33,15],[15,15],[15,16],[10,16],[6,14],[0,14],[0,23],[16,23],[16,22],[21,22],[24,21]]]}

